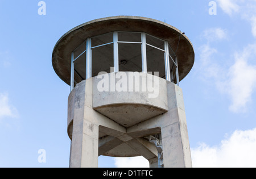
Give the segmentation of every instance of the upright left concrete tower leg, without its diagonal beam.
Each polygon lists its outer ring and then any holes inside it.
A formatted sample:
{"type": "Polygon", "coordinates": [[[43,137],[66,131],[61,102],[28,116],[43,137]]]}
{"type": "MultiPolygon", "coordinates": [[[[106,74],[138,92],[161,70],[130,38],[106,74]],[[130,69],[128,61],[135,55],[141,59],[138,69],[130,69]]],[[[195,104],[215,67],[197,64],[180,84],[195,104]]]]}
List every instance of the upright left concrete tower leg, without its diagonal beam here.
{"type": "Polygon", "coordinates": [[[71,168],[98,167],[98,124],[96,123],[97,120],[95,122],[90,120],[92,116],[88,115],[90,114],[89,106],[92,104],[92,97],[85,95],[85,91],[89,94],[92,90],[86,89],[84,85],[83,82],[77,84],[75,91],[71,168]]]}

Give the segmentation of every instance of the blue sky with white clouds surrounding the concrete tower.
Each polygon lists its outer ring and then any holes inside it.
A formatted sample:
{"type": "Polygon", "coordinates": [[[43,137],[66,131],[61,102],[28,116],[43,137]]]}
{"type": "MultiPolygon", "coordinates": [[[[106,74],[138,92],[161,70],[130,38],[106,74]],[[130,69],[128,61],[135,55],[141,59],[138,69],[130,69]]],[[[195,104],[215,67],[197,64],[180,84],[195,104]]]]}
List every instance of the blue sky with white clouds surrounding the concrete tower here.
{"type": "MultiPolygon", "coordinates": [[[[256,1],[0,0],[0,167],[68,167],[69,86],[55,74],[57,40],[82,23],[115,15],[171,24],[191,40],[195,64],[183,89],[193,166],[256,166],[256,1]],[[39,163],[39,149],[46,163],[39,163]]],[[[146,166],[100,157],[99,166],[146,166]]]]}

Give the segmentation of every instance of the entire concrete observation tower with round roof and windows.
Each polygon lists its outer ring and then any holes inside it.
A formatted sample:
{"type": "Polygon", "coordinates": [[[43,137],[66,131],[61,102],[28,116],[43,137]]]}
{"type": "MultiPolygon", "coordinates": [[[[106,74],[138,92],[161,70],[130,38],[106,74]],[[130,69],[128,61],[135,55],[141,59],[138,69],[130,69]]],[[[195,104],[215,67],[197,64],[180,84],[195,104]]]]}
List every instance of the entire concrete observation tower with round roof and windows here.
{"type": "Polygon", "coordinates": [[[96,19],[64,34],[52,65],[71,86],[69,166],[97,167],[104,155],[191,167],[179,81],[194,59],[187,36],[150,18],[96,19]]]}

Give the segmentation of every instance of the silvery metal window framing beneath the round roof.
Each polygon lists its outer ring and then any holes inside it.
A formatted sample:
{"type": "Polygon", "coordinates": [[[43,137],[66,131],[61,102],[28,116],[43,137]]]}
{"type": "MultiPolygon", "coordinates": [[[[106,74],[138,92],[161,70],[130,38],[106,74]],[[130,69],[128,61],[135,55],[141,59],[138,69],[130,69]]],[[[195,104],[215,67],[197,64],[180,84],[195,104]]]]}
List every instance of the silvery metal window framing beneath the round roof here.
{"type": "MultiPolygon", "coordinates": [[[[158,49],[159,51],[162,51],[164,53],[164,66],[165,66],[165,78],[167,81],[174,82],[176,78],[176,84],[179,86],[179,70],[178,70],[178,63],[177,63],[177,56],[175,52],[172,50],[171,46],[168,44],[168,41],[156,38],[152,35],[146,34],[145,32],[123,32],[123,31],[114,31],[110,32],[108,34],[113,34],[113,41],[104,43],[104,41],[101,41],[102,44],[100,45],[94,45],[92,47],[92,38],[87,38],[79,47],[74,49],[71,54],[71,90],[74,88],[75,84],[77,84],[77,81],[75,80],[75,73],[76,76],[79,76],[81,80],[86,80],[90,77],[92,77],[92,49],[96,49],[99,47],[102,47],[104,45],[110,45],[113,44],[113,64],[114,64],[114,72],[119,72],[119,51],[118,51],[118,44],[121,43],[127,43],[127,44],[141,44],[141,57],[142,57],[142,73],[147,73],[147,47],[151,47],[154,49],[158,49]],[[137,41],[119,41],[118,40],[118,33],[137,33],[141,34],[141,40],[137,41]],[[150,42],[150,40],[151,42],[150,42]],[[147,42],[147,40],[149,42],[147,42]],[[156,42],[160,43],[160,45],[156,42]],[[76,54],[77,51],[81,51],[79,54],[76,54]],[[75,63],[77,59],[80,59],[85,54],[85,79],[84,77],[79,74],[76,70],[75,63]]],[[[99,36],[104,36],[99,35],[99,36]]],[[[100,41],[100,40],[99,40],[100,41]]]]}

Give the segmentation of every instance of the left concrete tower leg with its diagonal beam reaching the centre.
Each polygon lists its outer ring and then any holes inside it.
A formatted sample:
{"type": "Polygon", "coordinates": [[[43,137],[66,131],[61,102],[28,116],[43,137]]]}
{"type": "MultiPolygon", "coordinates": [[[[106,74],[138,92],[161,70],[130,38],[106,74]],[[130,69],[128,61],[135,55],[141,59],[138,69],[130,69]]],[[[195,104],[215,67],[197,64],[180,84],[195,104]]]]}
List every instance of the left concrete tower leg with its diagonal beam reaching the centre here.
{"type": "Polygon", "coordinates": [[[126,128],[93,109],[93,78],[89,78],[76,84],[68,98],[68,135],[72,140],[69,167],[98,167],[104,145],[99,142],[102,132],[121,136],[126,128]]]}

